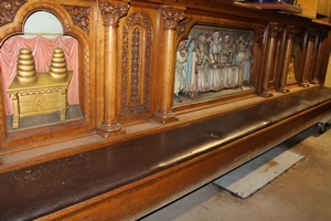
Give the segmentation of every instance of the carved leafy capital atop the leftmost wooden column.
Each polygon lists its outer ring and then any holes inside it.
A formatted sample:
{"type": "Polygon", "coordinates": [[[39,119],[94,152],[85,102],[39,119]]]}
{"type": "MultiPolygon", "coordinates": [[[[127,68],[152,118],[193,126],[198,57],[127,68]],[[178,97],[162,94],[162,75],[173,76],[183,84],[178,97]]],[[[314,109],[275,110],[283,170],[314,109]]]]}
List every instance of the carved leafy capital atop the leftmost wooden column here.
{"type": "Polygon", "coordinates": [[[125,17],[128,13],[129,4],[128,3],[100,3],[99,10],[102,12],[102,18],[104,25],[118,25],[118,22],[121,17],[125,17]]]}

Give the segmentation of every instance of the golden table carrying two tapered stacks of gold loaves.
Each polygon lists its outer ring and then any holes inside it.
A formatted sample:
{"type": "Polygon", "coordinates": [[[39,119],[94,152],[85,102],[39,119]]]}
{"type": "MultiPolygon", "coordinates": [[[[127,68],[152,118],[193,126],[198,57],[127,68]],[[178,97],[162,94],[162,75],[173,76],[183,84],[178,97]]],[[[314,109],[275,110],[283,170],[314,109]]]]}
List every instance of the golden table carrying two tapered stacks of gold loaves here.
{"type": "Polygon", "coordinates": [[[12,128],[21,117],[60,112],[65,120],[67,88],[73,74],[67,71],[62,49],[54,49],[49,73],[36,73],[30,49],[20,49],[17,76],[7,92],[13,103],[12,128]]]}

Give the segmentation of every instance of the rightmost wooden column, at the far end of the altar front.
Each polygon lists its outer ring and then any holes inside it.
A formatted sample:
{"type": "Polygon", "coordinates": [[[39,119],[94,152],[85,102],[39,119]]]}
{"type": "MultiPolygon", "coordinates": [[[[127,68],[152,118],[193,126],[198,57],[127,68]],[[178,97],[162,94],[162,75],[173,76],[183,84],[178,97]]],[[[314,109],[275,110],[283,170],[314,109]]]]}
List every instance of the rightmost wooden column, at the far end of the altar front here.
{"type": "Polygon", "coordinates": [[[320,33],[317,36],[317,42],[316,42],[316,59],[314,59],[314,69],[313,69],[313,73],[312,73],[312,80],[311,83],[312,84],[320,84],[320,75],[321,75],[321,71],[322,71],[322,63],[323,60],[321,57],[323,57],[324,54],[324,40],[327,38],[325,33],[320,33]]]}

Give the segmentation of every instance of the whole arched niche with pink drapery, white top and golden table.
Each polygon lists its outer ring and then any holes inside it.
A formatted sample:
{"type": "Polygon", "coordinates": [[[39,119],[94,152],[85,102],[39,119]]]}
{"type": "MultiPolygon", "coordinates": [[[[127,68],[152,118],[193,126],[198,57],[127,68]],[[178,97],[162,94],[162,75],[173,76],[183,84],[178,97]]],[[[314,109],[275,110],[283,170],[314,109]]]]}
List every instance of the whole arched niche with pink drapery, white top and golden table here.
{"type": "Polygon", "coordinates": [[[63,36],[57,18],[44,11],[31,14],[24,31],[0,48],[8,131],[83,118],[78,41],[63,36]],[[31,25],[41,17],[42,25],[31,25]]]}

